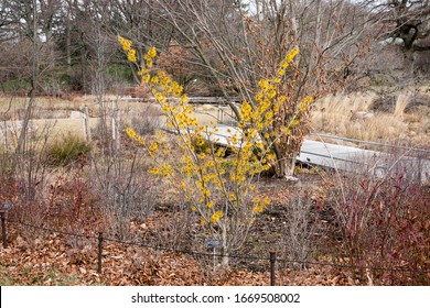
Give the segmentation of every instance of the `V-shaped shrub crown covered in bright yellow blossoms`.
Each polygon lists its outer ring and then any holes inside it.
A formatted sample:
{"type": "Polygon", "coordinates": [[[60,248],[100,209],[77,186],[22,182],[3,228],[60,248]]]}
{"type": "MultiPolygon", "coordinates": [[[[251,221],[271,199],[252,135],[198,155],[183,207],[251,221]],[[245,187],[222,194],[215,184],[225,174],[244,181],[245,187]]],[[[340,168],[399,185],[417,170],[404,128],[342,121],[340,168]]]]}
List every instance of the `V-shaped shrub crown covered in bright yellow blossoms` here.
{"type": "MultiPolygon", "coordinates": [[[[214,140],[215,127],[200,125],[193,116],[192,106],[183,94],[183,87],[162,70],[154,68],[157,50],[148,50],[140,61],[133,51],[132,42],[118,36],[128,61],[138,67],[137,75],[141,82],[150,87],[155,101],[166,119],[169,129],[178,133],[179,144],[184,151],[178,157],[178,165],[162,163],[151,168],[151,173],[171,179],[184,193],[193,211],[200,215],[202,224],[212,228],[212,232],[225,230],[228,219],[239,210],[247,212],[248,221],[261,213],[270,204],[268,198],[254,198],[256,186],[252,176],[270,168],[276,160],[270,144],[281,135],[291,134],[291,130],[300,123],[300,112],[309,110],[312,97],[299,102],[299,111],[287,123],[276,125],[277,117],[283,111],[289,99],[283,92],[287,68],[291,65],[299,50],[293,48],[280,63],[273,78],[261,79],[254,101],[246,101],[240,107],[239,130],[232,132],[229,142],[237,145],[228,160],[224,157],[226,148],[215,147],[207,140],[214,140]],[[139,64],[139,65],[138,65],[139,64]],[[259,153],[256,156],[256,152],[259,153]],[[228,215],[227,215],[228,213],[228,215]],[[214,228],[218,226],[219,228],[214,228]]],[[[127,134],[139,144],[144,145],[152,157],[157,157],[163,148],[161,141],[146,142],[131,128],[127,134]]]]}

